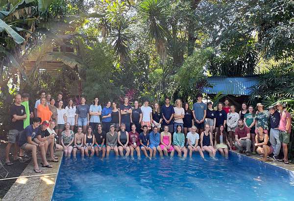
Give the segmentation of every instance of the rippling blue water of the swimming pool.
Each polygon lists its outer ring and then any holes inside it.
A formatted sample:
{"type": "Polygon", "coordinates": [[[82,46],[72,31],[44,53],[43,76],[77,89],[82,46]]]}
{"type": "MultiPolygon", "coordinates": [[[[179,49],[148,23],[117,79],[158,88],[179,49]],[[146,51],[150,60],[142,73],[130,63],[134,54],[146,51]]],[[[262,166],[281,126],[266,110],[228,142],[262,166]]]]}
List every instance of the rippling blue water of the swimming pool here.
{"type": "Polygon", "coordinates": [[[294,174],[230,153],[219,161],[63,158],[53,201],[293,201],[294,174]]]}

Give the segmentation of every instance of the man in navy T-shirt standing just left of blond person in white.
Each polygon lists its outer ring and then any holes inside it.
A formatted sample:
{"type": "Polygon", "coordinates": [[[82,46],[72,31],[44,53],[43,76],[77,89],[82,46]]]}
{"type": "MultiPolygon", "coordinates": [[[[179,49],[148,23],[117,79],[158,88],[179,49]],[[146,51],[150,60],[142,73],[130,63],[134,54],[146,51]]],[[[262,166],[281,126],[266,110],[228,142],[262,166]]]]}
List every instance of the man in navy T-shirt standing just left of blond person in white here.
{"type": "Polygon", "coordinates": [[[163,118],[162,125],[168,126],[169,131],[173,132],[173,115],[174,115],[174,109],[172,105],[170,104],[170,98],[166,97],[165,104],[161,107],[161,115],[163,118]]]}

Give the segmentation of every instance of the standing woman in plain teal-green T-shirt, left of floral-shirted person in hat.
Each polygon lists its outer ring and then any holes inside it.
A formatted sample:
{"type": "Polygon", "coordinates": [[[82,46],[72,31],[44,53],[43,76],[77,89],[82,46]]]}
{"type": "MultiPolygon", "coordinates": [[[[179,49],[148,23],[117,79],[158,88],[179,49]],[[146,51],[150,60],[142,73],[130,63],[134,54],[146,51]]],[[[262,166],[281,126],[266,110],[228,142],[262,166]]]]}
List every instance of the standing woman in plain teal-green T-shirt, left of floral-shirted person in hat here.
{"type": "Polygon", "coordinates": [[[256,154],[255,152],[255,112],[252,105],[248,106],[248,111],[249,112],[244,115],[244,125],[250,129],[250,135],[251,135],[251,141],[252,141],[252,147],[253,147],[252,154],[256,154]]]}

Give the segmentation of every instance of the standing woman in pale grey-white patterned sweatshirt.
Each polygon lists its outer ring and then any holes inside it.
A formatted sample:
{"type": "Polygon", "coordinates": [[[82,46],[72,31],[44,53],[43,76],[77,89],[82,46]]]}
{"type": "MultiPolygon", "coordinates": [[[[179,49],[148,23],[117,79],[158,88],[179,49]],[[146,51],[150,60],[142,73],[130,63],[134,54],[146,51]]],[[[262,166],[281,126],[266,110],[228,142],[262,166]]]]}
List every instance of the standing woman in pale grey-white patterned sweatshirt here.
{"type": "Polygon", "coordinates": [[[235,141],[235,129],[238,126],[238,120],[240,116],[239,114],[235,111],[235,106],[231,105],[230,112],[227,114],[227,130],[229,133],[229,141],[231,146],[233,145],[233,141],[235,141]]]}

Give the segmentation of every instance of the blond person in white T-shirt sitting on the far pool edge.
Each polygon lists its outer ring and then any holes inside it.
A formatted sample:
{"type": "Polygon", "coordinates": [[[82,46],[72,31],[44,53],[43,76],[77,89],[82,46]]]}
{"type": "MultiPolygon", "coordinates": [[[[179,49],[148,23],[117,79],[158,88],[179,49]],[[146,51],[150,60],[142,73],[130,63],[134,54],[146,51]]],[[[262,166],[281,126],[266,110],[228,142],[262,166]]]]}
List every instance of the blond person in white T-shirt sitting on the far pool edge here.
{"type": "Polygon", "coordinates": [[[196,133],[196,126],[192,126],[191,127],[192,131],[187,133],[187,143],[188,143],[188,149],[189,149],[189,155],[190,158],[192,158],[192,153],[193,151],[199,151],[200,156],[204,158],[204,154],[200,148],[200,146],[198,145],[199,142],[199,134],[196,133]]]}

